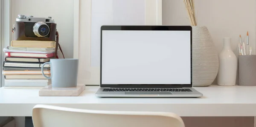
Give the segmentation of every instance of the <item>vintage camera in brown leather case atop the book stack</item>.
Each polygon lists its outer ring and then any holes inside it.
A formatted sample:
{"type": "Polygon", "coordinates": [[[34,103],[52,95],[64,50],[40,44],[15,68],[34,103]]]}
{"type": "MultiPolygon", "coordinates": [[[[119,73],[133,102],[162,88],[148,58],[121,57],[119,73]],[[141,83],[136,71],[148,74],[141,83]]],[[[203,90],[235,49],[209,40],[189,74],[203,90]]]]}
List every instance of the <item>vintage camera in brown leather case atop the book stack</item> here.
{"type": "Polygon", "coordinates": [[[52,17],[33,17],[19,14],[14,24],[14,40],[55,41],[56,23],[52,17]]]}

